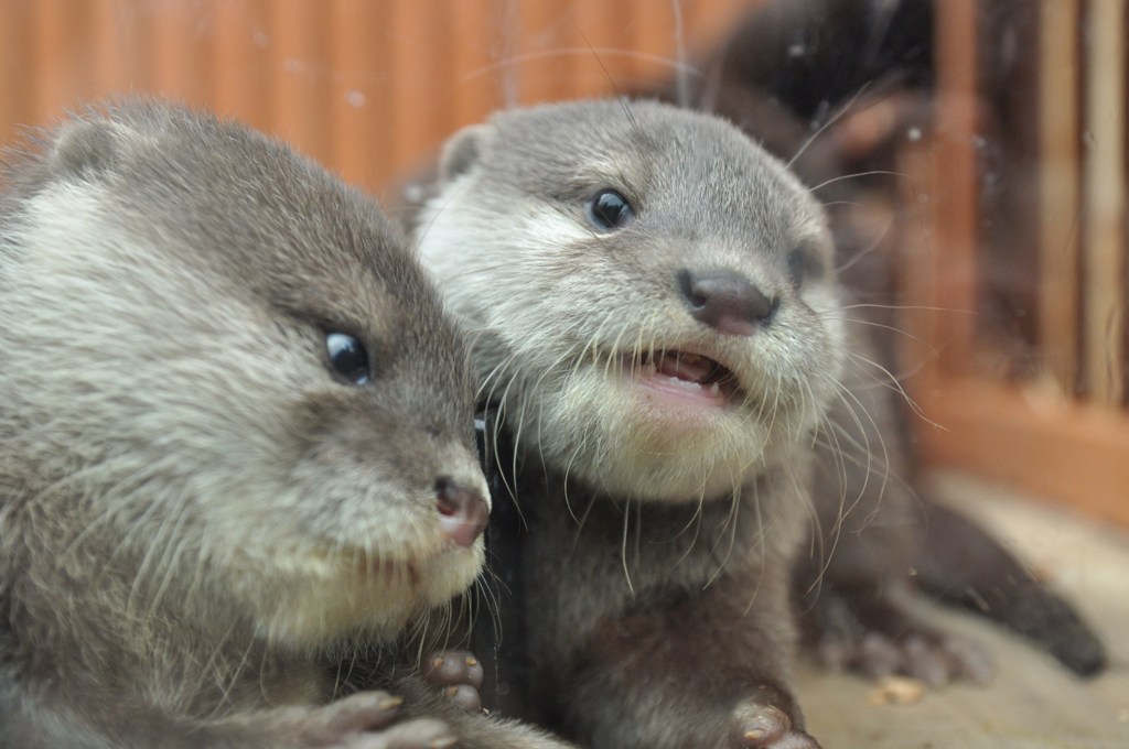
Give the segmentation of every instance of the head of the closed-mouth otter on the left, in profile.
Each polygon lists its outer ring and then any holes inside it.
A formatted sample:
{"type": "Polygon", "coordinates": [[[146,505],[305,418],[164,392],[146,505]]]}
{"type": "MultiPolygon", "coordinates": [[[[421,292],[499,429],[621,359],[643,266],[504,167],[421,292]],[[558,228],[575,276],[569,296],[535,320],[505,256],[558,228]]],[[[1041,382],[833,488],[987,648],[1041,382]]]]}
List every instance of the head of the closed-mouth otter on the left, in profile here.
{"type": "Polygon", "coordinates": [[[471,584],[466,354],[375,206],[156,105],[70,123],[15,174],[0,485],[27,492],[0,523],[52,520],[6,554],[299,647],[392,636],[471,584]]]}

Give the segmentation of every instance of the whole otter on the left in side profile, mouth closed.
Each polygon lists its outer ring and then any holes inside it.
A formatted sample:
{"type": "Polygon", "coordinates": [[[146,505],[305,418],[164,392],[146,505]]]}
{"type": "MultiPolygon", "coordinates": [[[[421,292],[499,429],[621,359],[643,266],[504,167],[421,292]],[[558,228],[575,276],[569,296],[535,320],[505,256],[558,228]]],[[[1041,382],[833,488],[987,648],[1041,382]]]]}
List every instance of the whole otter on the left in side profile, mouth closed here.
{"type": "Polygon", "coordinates": [[[564,746],[414,666],[489,499],[402,232],[175,105],[32,140],[0,183],[0,744],[564,746]]]}

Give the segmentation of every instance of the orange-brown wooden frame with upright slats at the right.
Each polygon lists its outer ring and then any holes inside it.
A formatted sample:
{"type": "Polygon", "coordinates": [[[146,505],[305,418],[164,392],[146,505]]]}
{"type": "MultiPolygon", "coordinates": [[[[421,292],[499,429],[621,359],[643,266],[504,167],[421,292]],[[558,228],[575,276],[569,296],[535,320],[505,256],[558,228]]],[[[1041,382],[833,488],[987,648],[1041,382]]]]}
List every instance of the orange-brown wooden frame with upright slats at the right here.
{"type": "Polygon", "coordinates": [[[934,465],[1129,527],[1124,3],[937,6],[934,134],[902,165],[918,434],[934,465]],[[994,90],[1006,42],[1038,52],[994,90]]]}

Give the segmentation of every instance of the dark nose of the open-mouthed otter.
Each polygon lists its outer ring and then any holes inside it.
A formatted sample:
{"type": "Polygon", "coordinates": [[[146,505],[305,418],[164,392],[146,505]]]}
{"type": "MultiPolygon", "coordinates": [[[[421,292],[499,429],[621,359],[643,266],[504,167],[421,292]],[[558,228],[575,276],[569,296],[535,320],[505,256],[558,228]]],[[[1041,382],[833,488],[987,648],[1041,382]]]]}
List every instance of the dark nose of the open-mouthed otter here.
{"type": "Polygon", "coordinates": [[[727,335],[752,335],[772,321],[778,300],[733,271],[679,272],[679,289],[694,319],[727,335]]]}

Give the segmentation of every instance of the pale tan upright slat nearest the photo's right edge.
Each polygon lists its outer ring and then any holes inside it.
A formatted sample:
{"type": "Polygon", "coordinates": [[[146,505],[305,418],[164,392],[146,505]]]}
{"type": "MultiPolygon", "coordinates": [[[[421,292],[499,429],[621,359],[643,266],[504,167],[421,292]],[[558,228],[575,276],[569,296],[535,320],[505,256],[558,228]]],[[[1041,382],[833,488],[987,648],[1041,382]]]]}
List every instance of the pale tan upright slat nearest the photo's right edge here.
{"type": "Polygon", "coordinates": [[[1086,55],[1085,364],[1091,397],[1121,404],[1124,370],[1126,7],[1091,0],[1086,55]]]}

